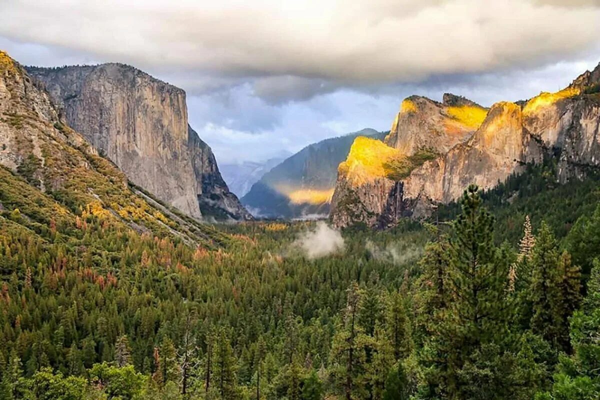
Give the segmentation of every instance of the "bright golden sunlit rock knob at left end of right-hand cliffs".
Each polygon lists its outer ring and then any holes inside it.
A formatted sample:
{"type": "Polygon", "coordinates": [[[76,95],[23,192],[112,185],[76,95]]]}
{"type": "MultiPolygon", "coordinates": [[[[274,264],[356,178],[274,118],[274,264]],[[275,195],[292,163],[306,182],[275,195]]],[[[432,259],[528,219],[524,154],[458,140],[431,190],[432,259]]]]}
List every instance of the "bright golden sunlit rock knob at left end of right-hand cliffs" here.
{"type": "Polygon", "coordinates": [[[386,165],[401,157],[397,149],[380,140],[359,136],[352,143],[348,158],[340,164],[338,171],[346,174],[353,185],[359,186],[377,178],[386,178],[389,173],[386,165]]]}

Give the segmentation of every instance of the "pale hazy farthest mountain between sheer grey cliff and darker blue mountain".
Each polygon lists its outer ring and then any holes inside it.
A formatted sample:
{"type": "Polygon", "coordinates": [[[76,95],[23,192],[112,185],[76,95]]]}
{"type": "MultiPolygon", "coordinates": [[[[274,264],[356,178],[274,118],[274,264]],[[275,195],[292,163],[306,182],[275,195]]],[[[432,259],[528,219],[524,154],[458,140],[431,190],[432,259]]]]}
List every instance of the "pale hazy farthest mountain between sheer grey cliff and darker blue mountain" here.
{"type": "Polygon", "coordinates": [[[292,155],[284,152],[280,157],[269,158],[262,162],[244,161],[243,163],[221,164],[219,170],[229,190],[238,197],[244,197],[252,185],[259,181],[265,173],[292,155]]]}

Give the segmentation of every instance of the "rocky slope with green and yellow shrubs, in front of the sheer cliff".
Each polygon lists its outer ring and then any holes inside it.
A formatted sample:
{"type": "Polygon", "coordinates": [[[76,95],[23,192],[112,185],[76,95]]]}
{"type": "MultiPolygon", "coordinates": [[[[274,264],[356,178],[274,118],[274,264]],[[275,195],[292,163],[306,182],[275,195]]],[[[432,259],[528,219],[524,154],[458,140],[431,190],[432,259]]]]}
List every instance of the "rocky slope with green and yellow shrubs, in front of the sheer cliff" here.
{"type": "Polygon", "coordinates": [[[43,84],[2,51],[0,228],[22,230],[26,237],[49,237],[59,230],[62,234],[53,240],[73,246],[83,239],[82,248],[95,246],[86,239],[88,229],[130,239],[139,234],[178,237],[203,248],[229,240],[131,185],[66,124],[43,84]]]}

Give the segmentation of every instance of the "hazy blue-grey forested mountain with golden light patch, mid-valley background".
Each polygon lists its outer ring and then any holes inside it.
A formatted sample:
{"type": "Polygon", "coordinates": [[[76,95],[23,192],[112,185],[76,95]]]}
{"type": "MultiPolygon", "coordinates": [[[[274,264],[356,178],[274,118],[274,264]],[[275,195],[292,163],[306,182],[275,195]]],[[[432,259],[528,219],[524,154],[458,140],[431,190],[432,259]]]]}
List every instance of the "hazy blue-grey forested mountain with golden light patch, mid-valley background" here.
{"type": "Polygon", "coordinates": [[[309,145],[271,169],[242,197],[242,204],[267,218],[327,215],[337,168],[358,136],[382,140],[385,133],[366,128],[309,145]]]}

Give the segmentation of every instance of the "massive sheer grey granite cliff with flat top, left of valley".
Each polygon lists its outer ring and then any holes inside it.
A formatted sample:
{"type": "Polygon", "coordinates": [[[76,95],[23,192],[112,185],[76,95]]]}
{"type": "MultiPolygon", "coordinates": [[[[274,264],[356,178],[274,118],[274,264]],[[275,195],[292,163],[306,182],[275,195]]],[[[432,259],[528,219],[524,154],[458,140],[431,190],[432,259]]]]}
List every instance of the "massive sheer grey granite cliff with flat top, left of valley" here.
{"type": "Polygon", "coordinates": [[[182,89],[122,64],[28,71],[68,124],[134,184],[196,218],[251,218],[188,125],[182,89]]]}

